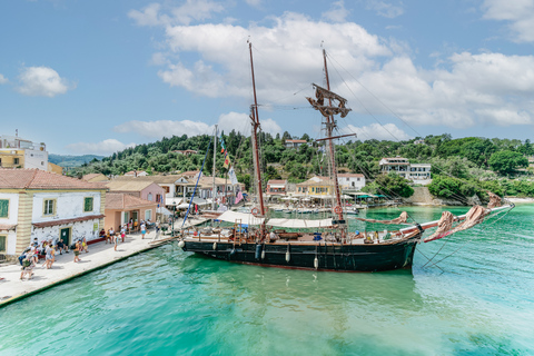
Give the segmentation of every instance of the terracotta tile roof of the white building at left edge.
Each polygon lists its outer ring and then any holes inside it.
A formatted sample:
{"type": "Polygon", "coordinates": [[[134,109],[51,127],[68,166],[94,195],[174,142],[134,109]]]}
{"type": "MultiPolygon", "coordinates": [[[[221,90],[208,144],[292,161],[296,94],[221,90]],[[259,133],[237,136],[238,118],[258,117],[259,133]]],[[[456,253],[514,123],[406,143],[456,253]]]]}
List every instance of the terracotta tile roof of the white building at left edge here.
{"type": "Polygon", "coordinates": [[[0,189],[106,189],[101,185],[40,169],[0,168],[0,189]]]}

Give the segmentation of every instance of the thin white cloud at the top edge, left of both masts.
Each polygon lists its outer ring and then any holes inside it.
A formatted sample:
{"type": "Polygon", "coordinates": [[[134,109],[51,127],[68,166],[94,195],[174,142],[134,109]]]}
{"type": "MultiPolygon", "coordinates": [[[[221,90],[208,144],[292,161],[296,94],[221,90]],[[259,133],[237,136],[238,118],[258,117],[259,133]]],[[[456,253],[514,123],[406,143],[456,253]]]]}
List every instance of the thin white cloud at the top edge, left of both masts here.
{"type": "Polygon", "coordinates": [[[189,24],[192,21],[202,21],[211,18],[215,12],[222,12],[221,3],[209,0],[187,0],[179,7],[161,7],[159,3],[150,3],[142,11],[130,10],[128,16],[139,26],[171,26],[189,24]],[[162,10],[169,14],[162,13],[162,10]]]}

